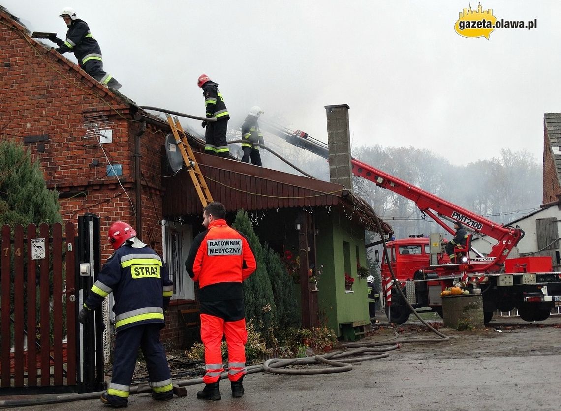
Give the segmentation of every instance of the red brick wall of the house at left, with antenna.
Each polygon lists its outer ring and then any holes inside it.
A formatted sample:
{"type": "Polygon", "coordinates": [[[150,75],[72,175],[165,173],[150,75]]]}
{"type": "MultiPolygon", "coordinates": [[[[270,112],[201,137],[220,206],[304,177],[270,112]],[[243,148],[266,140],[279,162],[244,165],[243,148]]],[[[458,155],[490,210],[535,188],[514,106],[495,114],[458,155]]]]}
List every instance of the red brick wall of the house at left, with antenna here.
{"type": "MultiPolygon", "coordinates": [[[[158,124],[148,124],[140,137],[139,205],[134,150],[141,123],[134,117],[136,105],[51,50],[50,43],[45,47],[31,39],[25,27],[2,10],[0,89],[0,138],[23,142],[39,161],[47,186],[59,192],[63,219],[77,223],[84,213],[99,215],[104,240],[113,221],[135,227],[136,211],[142,215],[142,241],[161,253],[165,133],[158,124]],[[87,127],[100,118],[113,130],[111,143],[99,144],[93,128],[87,127]],[[122,165],[120,181],[107,176],[109,162],[122,165]]],[[[102,261],[112,252],[102,241],[102,261]]],[[[166,321],[162,338],[183,343],[183,327],[173,310],[166,321]]]]}

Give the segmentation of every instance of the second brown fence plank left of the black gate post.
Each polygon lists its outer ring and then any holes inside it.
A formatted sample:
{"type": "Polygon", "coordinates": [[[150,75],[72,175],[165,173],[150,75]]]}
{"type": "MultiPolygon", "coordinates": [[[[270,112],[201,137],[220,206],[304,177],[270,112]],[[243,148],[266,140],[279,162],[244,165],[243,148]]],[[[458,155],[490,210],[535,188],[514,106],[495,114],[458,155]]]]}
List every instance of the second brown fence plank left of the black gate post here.
{"type": "Polygon", "coordinates": [[[63,385],[62,376],[62,225],[53,224],[53,362],[54,385],[63,385]]]}

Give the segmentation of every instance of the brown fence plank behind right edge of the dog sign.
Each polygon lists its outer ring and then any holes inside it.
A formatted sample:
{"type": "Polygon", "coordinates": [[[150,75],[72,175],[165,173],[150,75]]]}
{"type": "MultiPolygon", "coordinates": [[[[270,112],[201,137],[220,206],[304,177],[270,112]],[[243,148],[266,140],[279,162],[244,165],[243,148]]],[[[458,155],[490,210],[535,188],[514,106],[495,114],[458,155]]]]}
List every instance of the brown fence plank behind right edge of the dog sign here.
{"type": "Polygon", "coordinates": [[[37,260],[40,266],[41,277],[39,280],[39,332],[41,333],[41,386],[50,385],[50,343],[49,343],[49,315],[50,315],[50,298],[49,298],[49,225],[42,223],[39,225],[39,238],[45,239],[45,258],[37,260]]]}

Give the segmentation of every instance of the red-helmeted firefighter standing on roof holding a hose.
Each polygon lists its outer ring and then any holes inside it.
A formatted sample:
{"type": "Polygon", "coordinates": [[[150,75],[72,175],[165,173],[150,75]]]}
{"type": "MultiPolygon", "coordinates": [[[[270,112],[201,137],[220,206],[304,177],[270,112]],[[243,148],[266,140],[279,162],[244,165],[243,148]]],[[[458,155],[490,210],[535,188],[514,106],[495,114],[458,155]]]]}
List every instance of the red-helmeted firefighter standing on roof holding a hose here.
{"type": "Polygon", "coordinates": [[[197,80],[197,86],[203,89],[206,118],[217,119],[215,122],[203,122],[203,127],[206,127],[205,153],[228,158],[230,149],[226,140],[226,131],[230,116],[226,104],[224,104],[224,98],[217,88],[218,83],[210,80],[206,74],[201,74],[197,80]]]}

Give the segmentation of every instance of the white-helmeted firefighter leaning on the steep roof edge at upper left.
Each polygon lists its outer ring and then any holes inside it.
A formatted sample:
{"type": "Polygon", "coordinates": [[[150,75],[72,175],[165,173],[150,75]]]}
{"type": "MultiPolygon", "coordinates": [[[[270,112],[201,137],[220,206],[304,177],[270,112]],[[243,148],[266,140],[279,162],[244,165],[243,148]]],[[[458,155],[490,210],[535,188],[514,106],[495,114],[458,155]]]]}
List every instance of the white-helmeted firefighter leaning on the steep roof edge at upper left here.
{"type": "Polygon", "coordinates": [[[56,35],[49,37],[50,41],[58,44],[59,47],[56,51],[61,54],[74,53],[82,70],[109,88],[120,89],[121,84],[103,71],[102,49],[91,35],[88,23],[80,20],[71,7],[66,7],[59,16],[65,19],[68,32],[66,33],[66,41],[57,38],[56,35]]]}

